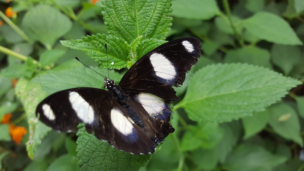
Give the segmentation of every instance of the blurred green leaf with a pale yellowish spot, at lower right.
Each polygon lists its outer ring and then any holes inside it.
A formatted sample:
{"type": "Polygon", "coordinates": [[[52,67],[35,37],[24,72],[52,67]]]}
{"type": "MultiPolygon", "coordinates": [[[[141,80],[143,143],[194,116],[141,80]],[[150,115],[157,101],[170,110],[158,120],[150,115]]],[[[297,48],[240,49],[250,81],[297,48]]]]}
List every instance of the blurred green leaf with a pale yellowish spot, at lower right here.
{"type": "Polygon", "coordinates": [[[269,108],[269,124],[280,136],[290,139],[303,147],[300,123],[295,110],[286,103],[274,104],[269,108]]]}

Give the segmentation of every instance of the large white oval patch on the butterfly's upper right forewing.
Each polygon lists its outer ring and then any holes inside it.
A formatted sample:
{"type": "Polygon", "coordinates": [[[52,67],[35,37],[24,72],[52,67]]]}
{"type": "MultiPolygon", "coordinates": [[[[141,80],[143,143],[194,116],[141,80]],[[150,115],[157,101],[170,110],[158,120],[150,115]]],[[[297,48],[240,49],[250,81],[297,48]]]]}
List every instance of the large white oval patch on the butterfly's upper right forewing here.
{"type": "Polygon", "coordinates": [[[154,53],[150,56],[150,61],[157,77],[165,80],[172,80],[176,77],[175,67],[164,55],[154,53]]]}

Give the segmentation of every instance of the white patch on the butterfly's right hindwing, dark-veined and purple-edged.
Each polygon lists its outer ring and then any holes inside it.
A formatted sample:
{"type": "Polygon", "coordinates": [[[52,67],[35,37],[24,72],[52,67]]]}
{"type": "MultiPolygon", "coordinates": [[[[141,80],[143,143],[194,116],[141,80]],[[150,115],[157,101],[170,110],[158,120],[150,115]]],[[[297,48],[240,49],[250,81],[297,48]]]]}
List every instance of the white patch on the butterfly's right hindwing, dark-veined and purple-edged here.
{"type": "MultiPolygon", "coordinates": [[[[139,93],[136,99],[150,116],[158,118],[160,114],[166,115],[164,111],[168,110],[168,107],[162,98],[150,93],[139,93]]],[[[161,118],[167,118],[167,116],[161,118]]]]}

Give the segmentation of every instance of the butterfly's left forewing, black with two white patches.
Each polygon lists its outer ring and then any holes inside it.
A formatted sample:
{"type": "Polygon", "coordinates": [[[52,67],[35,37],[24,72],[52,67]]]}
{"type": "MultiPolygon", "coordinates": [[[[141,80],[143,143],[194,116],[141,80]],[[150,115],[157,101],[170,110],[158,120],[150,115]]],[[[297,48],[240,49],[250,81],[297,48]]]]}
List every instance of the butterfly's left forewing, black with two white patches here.
{"type": "Polygon", "coordinates": [[[113,103],[108,91],[80,87],[54,93],[44,99],[36,108],[40,121],[61,132],[77,132],[77,125],[85,123],[89,133],[93,130],[99,139],[112,140],[109,111],[113,103]]]}

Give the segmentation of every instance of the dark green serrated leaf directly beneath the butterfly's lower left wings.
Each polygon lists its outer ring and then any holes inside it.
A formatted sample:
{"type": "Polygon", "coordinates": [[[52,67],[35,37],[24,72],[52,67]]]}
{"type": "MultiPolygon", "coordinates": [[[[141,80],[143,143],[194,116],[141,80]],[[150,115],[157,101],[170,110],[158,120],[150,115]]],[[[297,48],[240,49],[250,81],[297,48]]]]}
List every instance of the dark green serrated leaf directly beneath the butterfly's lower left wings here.
{"type": "Polygon", "coordinates": [[[78,128],[77,159],[81,170],[139,170],[151,158],[151,155],[135,156],[116,150],[108,142],[88,134],[83,123],[78,128]]]}

